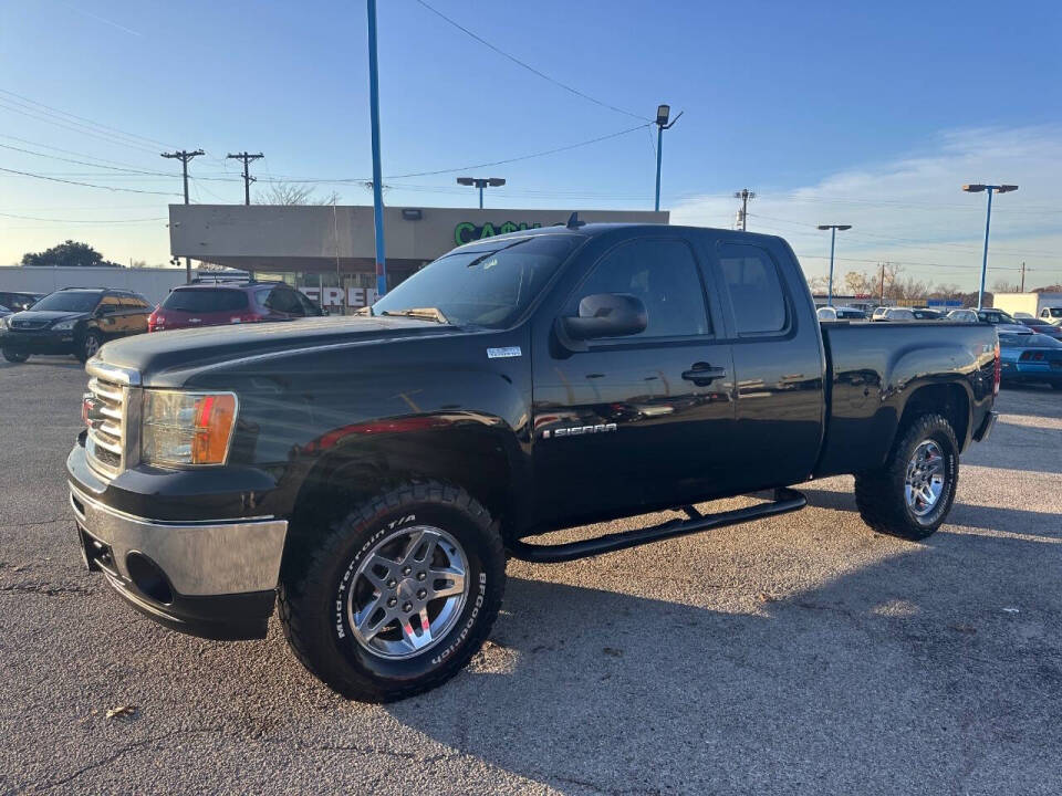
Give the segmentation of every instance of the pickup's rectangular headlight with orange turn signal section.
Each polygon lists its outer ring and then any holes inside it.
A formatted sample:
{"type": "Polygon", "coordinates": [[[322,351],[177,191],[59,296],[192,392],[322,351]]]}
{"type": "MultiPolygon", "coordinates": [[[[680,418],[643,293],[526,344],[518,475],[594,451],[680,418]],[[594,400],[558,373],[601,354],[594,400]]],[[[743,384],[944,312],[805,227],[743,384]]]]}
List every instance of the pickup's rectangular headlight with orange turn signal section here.
{"type": "Polygon", "coordinates": [[[140,459],[148,464],[223,464],[236,410],[232,392],[144,390],[140,459]]]}

